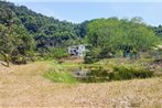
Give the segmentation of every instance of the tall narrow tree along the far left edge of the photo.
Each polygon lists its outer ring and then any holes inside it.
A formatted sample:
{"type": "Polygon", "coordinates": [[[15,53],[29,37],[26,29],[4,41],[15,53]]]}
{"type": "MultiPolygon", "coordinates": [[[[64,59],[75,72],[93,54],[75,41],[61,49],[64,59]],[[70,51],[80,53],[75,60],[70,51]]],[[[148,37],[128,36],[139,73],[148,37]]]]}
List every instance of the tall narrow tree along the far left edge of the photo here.
{"type": "Polygon", "coordinates": [[[4,25],[0,25],[0,53],[4,56],[4,61],[7,62],[7,66],[9,67],[10,55],[13,50],[12,45],[12,11],[10,9],[0,8],[0,20],[3,21],[4,25]]]}

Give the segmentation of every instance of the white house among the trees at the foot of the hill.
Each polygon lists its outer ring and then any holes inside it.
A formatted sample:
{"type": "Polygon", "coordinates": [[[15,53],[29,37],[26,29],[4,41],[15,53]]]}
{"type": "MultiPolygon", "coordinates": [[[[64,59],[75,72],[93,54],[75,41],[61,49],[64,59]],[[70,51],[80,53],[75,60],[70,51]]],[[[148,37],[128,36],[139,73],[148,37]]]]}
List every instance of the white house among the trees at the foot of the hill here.
{"type": "Polygon", "coordinates": [[[80,45],[74,45],[74,46],[68,46],[68,54],[73,55],[73,56],[85,56],[85,52],[86,50],[85,44],[80,44],[80,45]]]}

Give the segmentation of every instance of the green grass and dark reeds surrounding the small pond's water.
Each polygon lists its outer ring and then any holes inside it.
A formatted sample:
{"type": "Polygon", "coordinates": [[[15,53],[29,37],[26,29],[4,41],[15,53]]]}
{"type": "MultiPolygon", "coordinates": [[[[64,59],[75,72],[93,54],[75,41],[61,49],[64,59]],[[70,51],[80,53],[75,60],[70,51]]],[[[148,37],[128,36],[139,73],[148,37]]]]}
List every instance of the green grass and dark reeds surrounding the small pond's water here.
{"type": "Polygon", "coordinates": [[[44,77],[55,83],[102,83],[111,80],[126,80],[133,78],[148,78],[154,76],[153,72],[145,71],[141,63],[150,63],[152,60],[119,60],[109,58],[94,64],[77,64],[77,63],[62,63],[56,61],[46,61],[47,64],[53,66],[44,74],[44,77]],[[144,61],[144,62],[143,62],[144,61]],[[71,72],[79,67],[89,71],[87,77],[75,78],[71,72]]]}

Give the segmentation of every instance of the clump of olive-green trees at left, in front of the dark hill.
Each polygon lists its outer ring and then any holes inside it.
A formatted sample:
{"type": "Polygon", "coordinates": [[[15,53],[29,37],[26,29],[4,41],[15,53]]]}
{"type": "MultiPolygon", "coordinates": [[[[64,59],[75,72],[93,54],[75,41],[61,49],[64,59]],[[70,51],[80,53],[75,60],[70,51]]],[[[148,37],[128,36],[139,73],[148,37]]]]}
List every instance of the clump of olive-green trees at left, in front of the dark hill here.
{"type": "Polygon", "coordinates": [[[25,57],[31,57],[34,40],[33,36],[23,28],[14,12],[3,6],[0,7],[0,54],[4,61],[13,63],[25,63],[25,57]]]}

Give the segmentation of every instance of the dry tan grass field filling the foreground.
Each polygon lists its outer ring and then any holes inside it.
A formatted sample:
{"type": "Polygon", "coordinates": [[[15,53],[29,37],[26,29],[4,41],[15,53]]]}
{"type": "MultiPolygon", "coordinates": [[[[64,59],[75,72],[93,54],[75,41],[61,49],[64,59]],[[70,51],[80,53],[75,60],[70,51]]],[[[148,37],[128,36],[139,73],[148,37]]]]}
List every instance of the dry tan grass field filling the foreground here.
{"type": "Polygon", "coordinates": [[[162,107],[162,78],[55,84],[42,77],[51,66],[0,65],[0,107],[162,107]]]}

